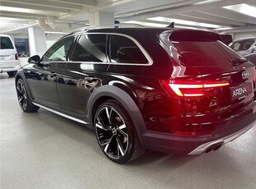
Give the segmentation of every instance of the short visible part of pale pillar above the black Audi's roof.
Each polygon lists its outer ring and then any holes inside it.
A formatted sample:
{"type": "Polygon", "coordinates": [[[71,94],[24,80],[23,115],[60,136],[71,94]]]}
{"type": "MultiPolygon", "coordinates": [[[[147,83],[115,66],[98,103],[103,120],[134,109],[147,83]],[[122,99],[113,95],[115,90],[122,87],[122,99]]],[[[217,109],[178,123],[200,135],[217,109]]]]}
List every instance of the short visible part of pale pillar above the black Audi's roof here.
{"type": "Polygon", "coordinates": [[[92,12],[89,19],[90,25],[110,25],[114,24],[114,13],[92,12]]]}

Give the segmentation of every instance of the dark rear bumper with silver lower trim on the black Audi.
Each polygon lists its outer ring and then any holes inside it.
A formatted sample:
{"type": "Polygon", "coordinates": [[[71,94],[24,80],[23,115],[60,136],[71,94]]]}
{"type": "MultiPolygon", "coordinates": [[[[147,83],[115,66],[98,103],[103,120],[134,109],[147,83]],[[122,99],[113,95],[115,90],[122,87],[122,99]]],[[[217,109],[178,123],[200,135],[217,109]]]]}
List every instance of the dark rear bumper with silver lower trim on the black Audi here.
{"type": "Polygon", "coordinates": [[[167,133],[145,131],[141,145],[146,150],[174,154],[201,154],[211,145],[224,145],[234,141],[250,128],[256,126],[256,101],[239,116],[223,120],[216,131],[208,136],[178,136],[167,133]]]}

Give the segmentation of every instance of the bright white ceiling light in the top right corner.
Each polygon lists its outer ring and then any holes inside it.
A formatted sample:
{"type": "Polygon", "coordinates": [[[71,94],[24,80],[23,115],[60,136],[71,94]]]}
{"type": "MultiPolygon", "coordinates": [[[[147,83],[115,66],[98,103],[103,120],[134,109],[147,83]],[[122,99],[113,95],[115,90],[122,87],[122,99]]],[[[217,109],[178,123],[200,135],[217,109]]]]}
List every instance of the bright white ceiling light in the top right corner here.
{"type": "Polygon", "coordinates": [[[239,12],[247,16],[253,16],[256,17],[256,7],[250,6],[248,4],[242,3],[238,5],[231,5],[223,7],[225,9],[229,9],[234,12],[239,12]]]}

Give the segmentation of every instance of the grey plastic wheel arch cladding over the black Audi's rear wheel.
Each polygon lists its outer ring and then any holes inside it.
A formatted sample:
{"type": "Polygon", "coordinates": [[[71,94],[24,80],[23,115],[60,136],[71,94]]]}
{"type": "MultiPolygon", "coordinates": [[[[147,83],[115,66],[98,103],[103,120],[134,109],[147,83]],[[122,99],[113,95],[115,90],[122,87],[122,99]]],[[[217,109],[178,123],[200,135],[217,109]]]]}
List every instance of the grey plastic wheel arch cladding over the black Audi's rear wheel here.
{"type": "Polygon", "coordinates": [[[132,122],[134,123],[137,135],[140,140],[140,145],[142,148],[144,148],[142,136],[145,133],[146,129],[145,122],[144,119],[142,118],[140,110],[136,106],[133,99],[131,99],[130,95],[128,95],[126,91],[121,90],[116,86],[103,85],[101,87],[98,87],[97,90],[93,92],[92,97],[89,99],[88,108],[88,117],[90,118],[90,122],[93,123],[93,113],[96,113],[98,105],[100,105],[102,102],[108,99],[116,99],[124,108],[126,108],[132,122]]]}

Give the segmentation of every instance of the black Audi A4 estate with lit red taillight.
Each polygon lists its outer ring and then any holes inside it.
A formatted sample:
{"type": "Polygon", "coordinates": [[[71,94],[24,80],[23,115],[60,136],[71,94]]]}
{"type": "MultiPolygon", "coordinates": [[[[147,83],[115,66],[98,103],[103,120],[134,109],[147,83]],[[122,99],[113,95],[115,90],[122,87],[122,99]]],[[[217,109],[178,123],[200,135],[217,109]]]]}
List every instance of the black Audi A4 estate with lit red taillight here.
{"type": "Polygon", "coordinates": [[[16,76],[21,109],[85,124],[119,164],[218,150],[256,123],[255,68],[213,32],[81,29],[29,62],[16,76]]]}

